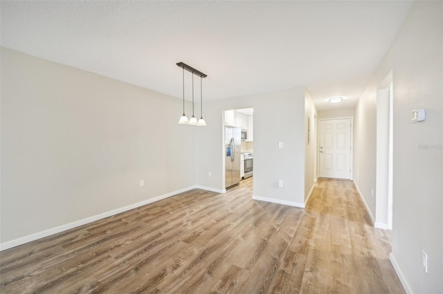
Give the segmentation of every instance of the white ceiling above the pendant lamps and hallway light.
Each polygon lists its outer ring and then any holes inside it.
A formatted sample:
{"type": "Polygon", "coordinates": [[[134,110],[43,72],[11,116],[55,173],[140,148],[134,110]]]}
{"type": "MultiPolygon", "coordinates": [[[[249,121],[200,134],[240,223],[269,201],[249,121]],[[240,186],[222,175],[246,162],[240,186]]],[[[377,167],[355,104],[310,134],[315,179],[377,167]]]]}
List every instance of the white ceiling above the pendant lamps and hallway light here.
{"type": "Polygon", "coordinates": [[[410,1],[1,1],[1,46],[177,98],[183,94],[176,63],[185,62],[208,75],[205,100],[305,86],[323,110],[354,106],[410,6],[410,1]],[[325,102],[335,95],[345,101],[325,102]]]}

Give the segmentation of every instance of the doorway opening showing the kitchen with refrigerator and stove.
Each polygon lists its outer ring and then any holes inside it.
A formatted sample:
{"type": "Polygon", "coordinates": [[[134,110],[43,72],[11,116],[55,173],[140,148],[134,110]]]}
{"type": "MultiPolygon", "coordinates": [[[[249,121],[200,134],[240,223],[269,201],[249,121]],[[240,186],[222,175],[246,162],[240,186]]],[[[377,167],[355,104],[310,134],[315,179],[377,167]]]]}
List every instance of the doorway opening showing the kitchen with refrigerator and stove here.
{"type": "Polygon", "coordinates": [[[253,177],[253,107],[224,111],[225,189],[253,177]]]}

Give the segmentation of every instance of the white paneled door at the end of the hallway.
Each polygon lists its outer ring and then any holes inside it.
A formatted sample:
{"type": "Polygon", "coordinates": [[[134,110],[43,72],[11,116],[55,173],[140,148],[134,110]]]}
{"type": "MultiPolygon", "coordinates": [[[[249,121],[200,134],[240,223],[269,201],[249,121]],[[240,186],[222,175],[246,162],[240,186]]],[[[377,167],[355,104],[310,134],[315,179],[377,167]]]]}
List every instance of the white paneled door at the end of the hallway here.
{"type": "Polygon", "coordinates": [[[320,177],[351,178],[351,119],[320,120],[320,177]]]}

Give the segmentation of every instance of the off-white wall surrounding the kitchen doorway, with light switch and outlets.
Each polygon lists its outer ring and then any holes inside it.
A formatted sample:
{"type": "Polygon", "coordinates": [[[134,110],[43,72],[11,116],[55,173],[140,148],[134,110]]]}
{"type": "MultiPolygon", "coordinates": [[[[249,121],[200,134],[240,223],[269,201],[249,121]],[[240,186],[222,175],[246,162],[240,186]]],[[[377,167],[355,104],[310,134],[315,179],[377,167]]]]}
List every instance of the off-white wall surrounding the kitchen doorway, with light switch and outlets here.
{"type": "Polygon", "coordinates": [[[304,206],[305,89],[204,103],[208,127],[197,129],[197,185],[224,189],[223,111],[254,109],[255,199],[304,206]],[[278,148],[278,142],[284,148],[278,148]],[[208,176],[212,172],[212,176],[208,176]],[[278,180],[284,188],[278,188],[278,180]]]}

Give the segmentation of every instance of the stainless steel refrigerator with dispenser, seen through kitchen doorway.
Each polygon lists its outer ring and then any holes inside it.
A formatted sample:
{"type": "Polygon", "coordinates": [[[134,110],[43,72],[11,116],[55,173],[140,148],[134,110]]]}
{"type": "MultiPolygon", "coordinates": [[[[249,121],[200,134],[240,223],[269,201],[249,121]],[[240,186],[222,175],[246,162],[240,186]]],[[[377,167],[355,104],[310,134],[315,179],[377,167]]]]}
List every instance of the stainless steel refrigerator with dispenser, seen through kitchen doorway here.
{"type": "Polygon", "coordinates": [[[240,148],[242,128],[226,126],[225,134],[225,185],[226,189],[240,182],[240,148]]]}

